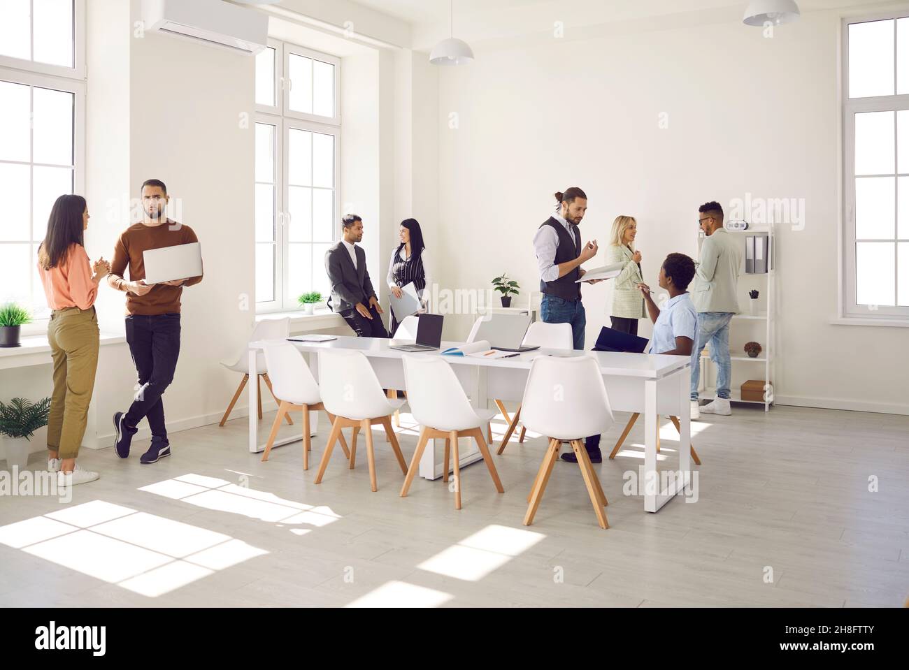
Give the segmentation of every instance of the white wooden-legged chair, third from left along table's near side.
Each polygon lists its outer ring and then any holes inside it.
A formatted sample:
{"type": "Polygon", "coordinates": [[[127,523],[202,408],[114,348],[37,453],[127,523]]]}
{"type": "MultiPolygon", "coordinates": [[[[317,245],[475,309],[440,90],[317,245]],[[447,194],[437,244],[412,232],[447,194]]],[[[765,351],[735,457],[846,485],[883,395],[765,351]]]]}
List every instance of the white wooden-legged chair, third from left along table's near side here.
{"type": "Polygon", "coordinates": [[[494,409],[479,409],[470,406],[470,401],[461,388],[454,370],[438,356],[405,354],[404,376],[407,381],[410,409],[414,419],[422,427],[416,443],[414,458],[410,461],[401,498],[407,495],[414,481],[420,458],[426,443],[433,438],[445,439],[445,474],[448,481],[448,458],[454,450],[454,508],[461,508],[461,467],[458,454],[458,438],[474,438],[480,453],[493,478],[495,489],[504,493],[499,473],[495,470],[492,454],[483,436],[483,426],[495,416],[494,409]]]}

